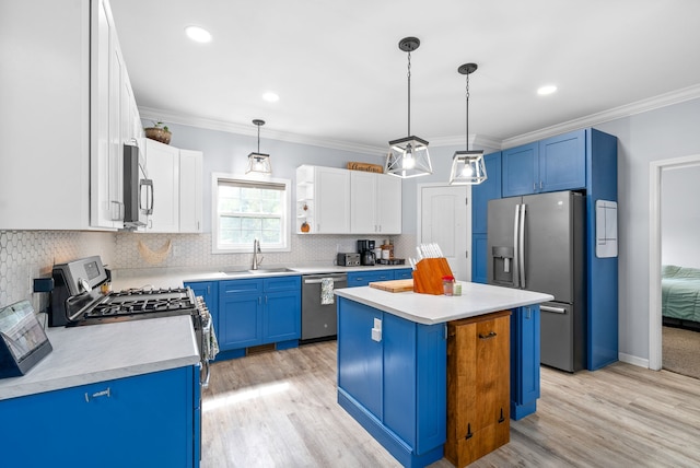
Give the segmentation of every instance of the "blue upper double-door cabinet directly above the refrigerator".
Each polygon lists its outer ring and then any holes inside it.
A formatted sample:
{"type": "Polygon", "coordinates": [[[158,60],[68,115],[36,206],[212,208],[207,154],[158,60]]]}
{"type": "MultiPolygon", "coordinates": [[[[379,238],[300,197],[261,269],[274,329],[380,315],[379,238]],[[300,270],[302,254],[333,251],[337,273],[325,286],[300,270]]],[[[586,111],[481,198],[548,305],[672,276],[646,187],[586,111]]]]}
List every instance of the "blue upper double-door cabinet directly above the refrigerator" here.
{"type": "Polygon", "coordinates": [[[503,197],[586,186],[586,130],[503,151],[503,197]]]}

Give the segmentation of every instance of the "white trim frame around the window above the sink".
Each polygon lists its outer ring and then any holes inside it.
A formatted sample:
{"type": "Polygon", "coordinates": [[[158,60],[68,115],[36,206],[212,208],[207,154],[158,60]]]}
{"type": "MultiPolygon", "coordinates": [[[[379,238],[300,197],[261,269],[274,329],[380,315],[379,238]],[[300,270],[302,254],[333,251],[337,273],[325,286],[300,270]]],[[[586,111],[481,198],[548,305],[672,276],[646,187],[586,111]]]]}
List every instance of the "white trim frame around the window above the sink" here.
{"type": "Polygon", "coordinates": [[[250,177],[240,174],[226,174],[226,173],[212,173],[211,174],[211,253],[212,254],[250,254],[253,251],[253,245],[241,248],[219,248],[217,239],[219,238],[219,180],[246,180],[246,182],[266,182],[272,184],[284,185],[284,211],[285,215],[282,219],[282,242],[283,247],[265,247],[261,245],[262,251],[291,251],[291,225],[292,225],[292,182],[287,178],[272,178],[265,177],[260,179],[257,177],[250,177]]]}

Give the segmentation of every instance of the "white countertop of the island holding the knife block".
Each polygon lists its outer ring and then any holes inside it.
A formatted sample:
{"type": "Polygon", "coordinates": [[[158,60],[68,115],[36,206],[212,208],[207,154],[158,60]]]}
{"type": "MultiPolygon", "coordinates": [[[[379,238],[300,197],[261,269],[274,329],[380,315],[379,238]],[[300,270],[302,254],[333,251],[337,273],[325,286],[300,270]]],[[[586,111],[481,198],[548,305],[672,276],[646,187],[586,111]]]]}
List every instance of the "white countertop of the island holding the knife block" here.
{"type": "Polygon", "coordinates": [[[335,290],[346,297],[380,311],[424,325],[441,324],[524,305],[539,304],[555,297],[532,291],[458,281],[460,296],[419,294],[412,291],[392,293],[370,286],[335,290]]]}

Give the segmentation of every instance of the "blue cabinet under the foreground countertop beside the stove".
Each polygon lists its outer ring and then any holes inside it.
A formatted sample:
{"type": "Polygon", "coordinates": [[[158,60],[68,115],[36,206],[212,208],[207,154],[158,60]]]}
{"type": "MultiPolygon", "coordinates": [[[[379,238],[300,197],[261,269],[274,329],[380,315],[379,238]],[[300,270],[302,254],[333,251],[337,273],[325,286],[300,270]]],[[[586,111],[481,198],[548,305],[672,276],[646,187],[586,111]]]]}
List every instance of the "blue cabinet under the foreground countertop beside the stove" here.
{"type": "Polygon", "coordinates": [[[188,366],[1,400],[2,466],[199,467],[198,378],[188,366]]]}

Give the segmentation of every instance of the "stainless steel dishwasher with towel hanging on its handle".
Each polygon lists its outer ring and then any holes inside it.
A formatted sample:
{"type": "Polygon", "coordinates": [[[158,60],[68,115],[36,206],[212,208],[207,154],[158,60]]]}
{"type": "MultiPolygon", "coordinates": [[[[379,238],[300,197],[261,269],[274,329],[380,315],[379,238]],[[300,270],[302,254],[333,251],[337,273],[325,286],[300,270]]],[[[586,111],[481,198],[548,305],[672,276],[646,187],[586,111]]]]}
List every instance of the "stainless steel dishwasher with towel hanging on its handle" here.
{"type": "Polygon", "coordinates": [[[337,297],[332,304],[322,304],[324,278],[332,279],[332,288],[348,288],[346,273],[304,274],[302,277],[302,342],[330,340],[338,334],[337,297]]]}

